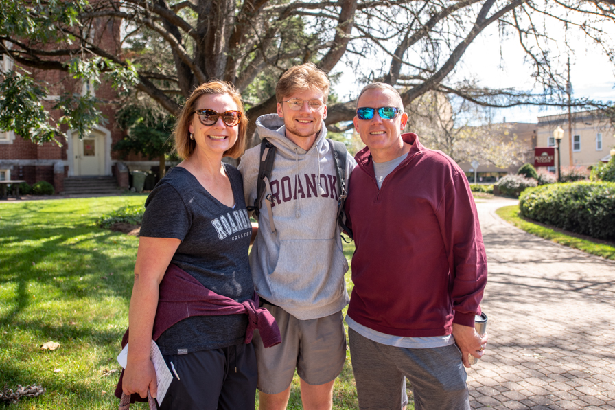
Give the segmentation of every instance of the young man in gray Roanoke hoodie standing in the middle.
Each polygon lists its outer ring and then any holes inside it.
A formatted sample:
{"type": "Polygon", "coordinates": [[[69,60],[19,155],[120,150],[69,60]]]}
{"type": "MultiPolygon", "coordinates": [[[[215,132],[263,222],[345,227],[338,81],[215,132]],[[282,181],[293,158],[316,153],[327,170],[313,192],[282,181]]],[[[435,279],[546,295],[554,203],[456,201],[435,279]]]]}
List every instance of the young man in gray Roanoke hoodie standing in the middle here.
{"type": "MultiPolygon", "coordinates": [[[[325,139],[329,80],[308,63],[292,67],[276,86],[277,114],[257,119],[261,139],[276,148],[270,178],[270,220],[263,199],[259,232],[250,254],[255,288],[274,315],[282,343],[264,349],[253,343],[258,362],[259,405],[286,409],[295,369],[306,410],[332,409],[332,391],[346,358],[341,310],[348,304],[337,223],[337,174],[325,139]],[[271,224],[271,222],[273,224],[271,224]]],[[[346,174],[356,163],[346,154],[346,174]]],[[[257,196],[260,146],[247,150],[239,166],[248,204],[257,196]]]]}

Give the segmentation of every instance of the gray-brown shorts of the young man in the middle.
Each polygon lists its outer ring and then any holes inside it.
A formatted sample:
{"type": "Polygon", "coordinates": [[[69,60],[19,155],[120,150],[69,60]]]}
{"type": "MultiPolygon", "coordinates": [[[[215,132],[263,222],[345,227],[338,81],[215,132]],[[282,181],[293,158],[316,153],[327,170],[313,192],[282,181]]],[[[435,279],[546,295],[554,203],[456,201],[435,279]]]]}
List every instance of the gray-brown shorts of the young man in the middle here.
{"type": "Polygon", "coordinates": [[[308,385],[335,380],[346,360],[346,333],[342,312],[318,319],[299,320],[279,306],[264,304],[280,328],[282,343],[264,348],[258,330],[252,343],[258,364],[258,389],[266,394],[286,390],[294,369],[308,385]]]}

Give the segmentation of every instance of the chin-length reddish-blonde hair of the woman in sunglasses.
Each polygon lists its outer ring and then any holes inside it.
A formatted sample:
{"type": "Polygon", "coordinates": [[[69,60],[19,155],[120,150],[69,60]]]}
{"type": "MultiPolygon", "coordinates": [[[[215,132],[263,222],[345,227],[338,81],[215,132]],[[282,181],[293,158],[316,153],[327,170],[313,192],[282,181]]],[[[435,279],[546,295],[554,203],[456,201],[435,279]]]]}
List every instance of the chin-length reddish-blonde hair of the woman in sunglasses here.
{"type": "Polygon", "coordinates": [[[246,117],[246,111],[244,110],[244,103],[242,102],[242,96],[237,92],[237,89],[233,84],[220,80],[209,80],[192,91],[192,95],[186,101],[179,117],[175,123],[175,129],[173,130],[175,138],[175,150],[177,155],[182,159],[188,159],[194,148],[196,148],[196,141],[190,139],[189,125],[192,121],[193,111],[195,110],[194,104],[202,95],[216,95],[216,94],[228,94],[231,96],[235,104],[237,104],[237,111],[241,111],[242,119],[240,120],[237,130],[237,141],[228,150],[224,151],[222,157],[239,158],[246,150],[246,131],[248,129],[248,117],[246,117]]]}

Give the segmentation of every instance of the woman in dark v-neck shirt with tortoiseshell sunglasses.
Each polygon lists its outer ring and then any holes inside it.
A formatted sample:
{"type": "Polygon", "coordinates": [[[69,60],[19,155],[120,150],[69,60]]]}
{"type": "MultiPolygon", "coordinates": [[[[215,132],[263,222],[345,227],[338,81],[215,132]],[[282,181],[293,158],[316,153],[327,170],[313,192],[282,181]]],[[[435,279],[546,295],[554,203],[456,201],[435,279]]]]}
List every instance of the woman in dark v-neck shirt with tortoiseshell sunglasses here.
{"type": "MultiPolygon", "coordinates": [[[[146,201],[122,390],[142,398],[148,389],[156,390],[149,358],[153,337],[174,374],[161,409],[254,408],[256,359],[252,344],[244,343],[248,317],[209,312],[170,319],[161,313],[164,303],[195,288],[233,304],[253,297],[248,264],[252,228],[242,179],[236,168],[222,163],[222,157],[244,152],[247,122],[241,97],[230,84],[211,81],[198,87],[174,130],[183,161],[146,201]]],[[[189,299],[181,306],[194,301],[189,299]]]]}

